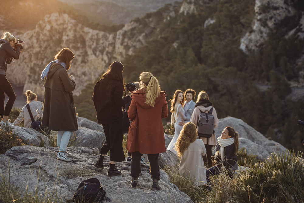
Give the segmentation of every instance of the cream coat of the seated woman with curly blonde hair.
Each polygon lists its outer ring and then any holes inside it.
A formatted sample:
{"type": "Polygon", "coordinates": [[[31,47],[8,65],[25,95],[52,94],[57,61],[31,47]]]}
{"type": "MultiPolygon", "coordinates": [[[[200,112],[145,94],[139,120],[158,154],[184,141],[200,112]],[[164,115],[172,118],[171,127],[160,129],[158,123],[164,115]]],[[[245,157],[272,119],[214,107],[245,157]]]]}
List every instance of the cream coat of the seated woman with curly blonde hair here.
{"type": "Polygon", "coordinates": [[[181,156],[181,163],[179,173],[181,176],[195,178],[195,187],[204,185],[206,181],[206,167],[202,155],[206,154],[206,148],[201,139],[196,139],[190,143],[183,156],[181,156]]]}

